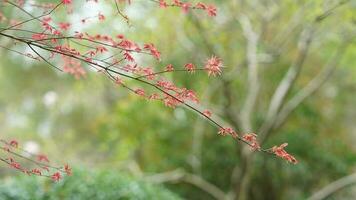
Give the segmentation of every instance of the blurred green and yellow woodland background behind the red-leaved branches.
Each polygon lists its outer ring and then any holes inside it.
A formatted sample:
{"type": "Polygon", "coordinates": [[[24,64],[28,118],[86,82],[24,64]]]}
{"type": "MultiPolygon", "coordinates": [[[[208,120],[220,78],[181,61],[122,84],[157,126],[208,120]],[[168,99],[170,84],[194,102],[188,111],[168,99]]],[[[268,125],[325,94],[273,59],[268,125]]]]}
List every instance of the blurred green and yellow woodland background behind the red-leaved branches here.
{"type": "MultiPolygon", "coordinates": [[[[355,173],[356,2],[209,3],[218,7],[215,18],[149,1],[125,7],[131,26],[113,16],[110,1],[56,17],[74,23],[100,10],[104,24],[76,28],[156,44],[162,62],[142,58],[145,66],[178,68],[221,57],[221,77],[167,77],[197,91],[202,104],[236,130],[264,130],[264,147],[288,142],[299,164],[246,153],[195,113],[142,100],[97,73],[75,80],[0,49],[1,138],[76,168],[73,177],[53,184],[0,165],[0,199],[306,199],[355,173]],[[257,81],[249,79],[253,67],[257,81]],[[293,72],[274,115],[271,99],[293,72]],[[285,118],[278,115],[293,103],[285,118]]],[[[355,187],[342,187],[328,199],[355,196],[355,187]]]]}

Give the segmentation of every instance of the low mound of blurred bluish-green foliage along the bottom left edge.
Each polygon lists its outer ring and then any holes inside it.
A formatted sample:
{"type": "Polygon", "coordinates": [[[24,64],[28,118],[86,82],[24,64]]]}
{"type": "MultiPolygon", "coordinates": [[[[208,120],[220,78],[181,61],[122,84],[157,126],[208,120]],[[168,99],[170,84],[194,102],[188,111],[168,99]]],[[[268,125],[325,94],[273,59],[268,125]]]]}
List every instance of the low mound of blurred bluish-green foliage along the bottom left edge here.
{"type": "Polygon", "coordinates": [[[74,174],[58,183],[43,177],[20,176],[2,181],[2,200],[178,200],[167,189],[135,180],[120,172],[74,170],[74,174]]]}

